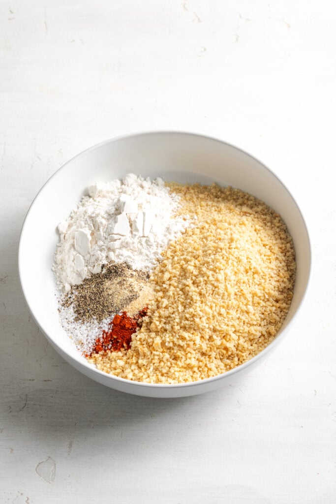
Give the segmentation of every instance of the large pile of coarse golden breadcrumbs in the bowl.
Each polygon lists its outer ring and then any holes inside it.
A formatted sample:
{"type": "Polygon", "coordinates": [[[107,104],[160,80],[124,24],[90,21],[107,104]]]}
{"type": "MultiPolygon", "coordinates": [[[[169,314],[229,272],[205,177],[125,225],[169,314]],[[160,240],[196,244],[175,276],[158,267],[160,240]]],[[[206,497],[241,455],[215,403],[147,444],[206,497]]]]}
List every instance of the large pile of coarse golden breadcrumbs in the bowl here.
{"type": "Polygon", "coordinates": [[[286,318],[296,269],[283,220],[261,201],[215,184],[167,185],[195,226],[152,273],[154,299],[130,350],[90,359],[107,373],[156,384],[209,378],[259,353],[286,318]]]}

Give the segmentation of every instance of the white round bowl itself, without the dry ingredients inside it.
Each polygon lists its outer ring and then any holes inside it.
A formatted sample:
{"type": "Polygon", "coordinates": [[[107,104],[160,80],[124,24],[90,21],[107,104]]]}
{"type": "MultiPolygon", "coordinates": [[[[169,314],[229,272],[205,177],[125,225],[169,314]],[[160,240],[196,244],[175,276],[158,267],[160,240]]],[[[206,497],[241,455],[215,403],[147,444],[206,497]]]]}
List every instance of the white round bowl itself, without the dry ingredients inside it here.
{"type": "Polygon", "coordinates": [[[140,396],[182,397],[232,383],[270,352],[290,329],[310,274],[311,253],[301,212],[283,183],[255,158],[219,140],[188,133],[158,132],[108,140],[64,164],[42,187],[25,219],[19,246],[19,273],[29,309],[51,345],[76,369],[113,389],[140,396]],[[264,201],[284,219],[293,237],[297,278],[292,304],[276,339],[248,362],[216,377],[180,385],[124,380],[96,369],[72,345],[58,321],[51,272],[57,224],[69,216],[88,185],[133,172],[179,182],[232,185],[264,201]]]}

